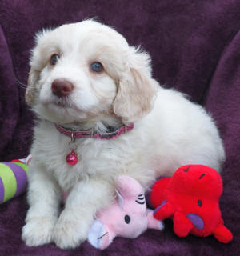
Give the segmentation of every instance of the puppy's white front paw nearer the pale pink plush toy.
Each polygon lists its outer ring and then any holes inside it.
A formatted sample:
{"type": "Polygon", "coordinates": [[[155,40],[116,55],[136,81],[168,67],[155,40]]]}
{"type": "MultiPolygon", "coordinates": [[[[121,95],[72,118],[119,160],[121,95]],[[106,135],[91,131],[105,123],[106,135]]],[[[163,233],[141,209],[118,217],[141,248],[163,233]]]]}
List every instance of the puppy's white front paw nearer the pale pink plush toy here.
{"type": "Polygon", "coordinates": [[[64,214],[58,218],[54,229],[54,242],[62,249],[80,246],[87,238],[89,225],[84,219],[74,219],[71,214],[64,214]]]}

